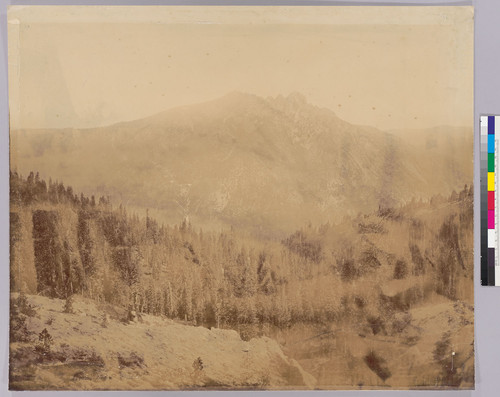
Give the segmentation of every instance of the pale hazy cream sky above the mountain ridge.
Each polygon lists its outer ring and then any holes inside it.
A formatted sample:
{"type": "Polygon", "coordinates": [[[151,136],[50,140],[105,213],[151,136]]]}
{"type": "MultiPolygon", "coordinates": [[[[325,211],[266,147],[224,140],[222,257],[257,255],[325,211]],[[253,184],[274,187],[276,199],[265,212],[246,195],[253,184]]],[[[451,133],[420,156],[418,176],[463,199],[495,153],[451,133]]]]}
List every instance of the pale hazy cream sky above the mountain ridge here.
{"type": "Polygon", "coordinates": [[[470,8],[350,8],[14,9],[12,127],[105,125],[230,91],[298,91],[381,129],[472,125],[470,8]]]}

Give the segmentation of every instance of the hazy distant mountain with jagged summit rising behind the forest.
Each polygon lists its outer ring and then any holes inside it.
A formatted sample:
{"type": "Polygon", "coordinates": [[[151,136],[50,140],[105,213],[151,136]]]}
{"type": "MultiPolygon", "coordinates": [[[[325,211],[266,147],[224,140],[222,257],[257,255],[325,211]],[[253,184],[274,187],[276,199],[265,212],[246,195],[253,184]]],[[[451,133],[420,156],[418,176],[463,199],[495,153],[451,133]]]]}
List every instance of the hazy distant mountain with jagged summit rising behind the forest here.
{"type": "Polygon", "coordinates": [[[472,128],[383,132],[300,94],[239,92],[93,129],[15,130],[11,165],[166,223],[279,237],[473,179],[472,128]]]}

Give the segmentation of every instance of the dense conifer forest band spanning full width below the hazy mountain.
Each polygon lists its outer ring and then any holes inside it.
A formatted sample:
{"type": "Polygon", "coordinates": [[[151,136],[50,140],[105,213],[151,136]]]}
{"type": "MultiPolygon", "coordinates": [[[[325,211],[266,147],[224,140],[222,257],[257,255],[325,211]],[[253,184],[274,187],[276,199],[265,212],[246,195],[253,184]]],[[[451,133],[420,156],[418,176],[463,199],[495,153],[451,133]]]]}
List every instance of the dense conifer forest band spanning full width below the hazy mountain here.
{"type": "Polygon", "coordinates": [[[461,287],[472,277],[472,187],[306,226],[281,243],[159,225],[33,173],[11,174],[10,189],[12,291],[228,327],[322,322],[365,305],[385,315],[431,292],[472,299],[461,287]],[[391,280],[408,289],[385,302],[391,280]]]}

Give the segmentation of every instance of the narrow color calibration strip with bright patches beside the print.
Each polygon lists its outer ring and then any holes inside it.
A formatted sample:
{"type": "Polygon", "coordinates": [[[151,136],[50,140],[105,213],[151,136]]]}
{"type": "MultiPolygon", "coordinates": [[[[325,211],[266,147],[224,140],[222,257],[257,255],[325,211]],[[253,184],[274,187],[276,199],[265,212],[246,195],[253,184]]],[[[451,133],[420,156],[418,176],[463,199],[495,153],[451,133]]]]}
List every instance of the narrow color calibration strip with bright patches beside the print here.
{"type": "Polygon", "coordinates": [[[497,269],[496,134],[499,116],[481,116],[481,285],[500,285],[497,269]]]}

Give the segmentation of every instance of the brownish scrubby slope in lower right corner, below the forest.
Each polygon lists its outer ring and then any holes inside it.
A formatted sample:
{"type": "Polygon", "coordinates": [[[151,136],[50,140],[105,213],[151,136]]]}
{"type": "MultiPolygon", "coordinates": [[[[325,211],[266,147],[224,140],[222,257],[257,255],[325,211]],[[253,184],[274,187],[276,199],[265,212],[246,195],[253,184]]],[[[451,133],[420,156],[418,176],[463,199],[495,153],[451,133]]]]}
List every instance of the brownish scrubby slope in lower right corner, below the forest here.
{"type": "Polygon", "coordinates": [[[300,324],[276,337],[285,354],[316,377],[318,389],[468,389],[474,385],[473,321],[471,305],[433,296],[399,313],[388,332],[377,335],[332,323],[300,324]],[[369,352],[383,361],[387,379],[369,367],[369,352]]]}

